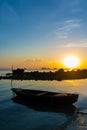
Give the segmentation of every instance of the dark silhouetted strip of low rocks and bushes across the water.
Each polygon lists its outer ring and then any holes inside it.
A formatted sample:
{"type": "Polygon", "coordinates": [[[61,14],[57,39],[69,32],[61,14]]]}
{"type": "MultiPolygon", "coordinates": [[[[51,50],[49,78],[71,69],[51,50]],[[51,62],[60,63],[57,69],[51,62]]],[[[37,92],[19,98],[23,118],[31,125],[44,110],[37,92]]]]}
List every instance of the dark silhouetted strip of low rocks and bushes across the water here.
{"type": "Polygon", "coordinates": [[[21,80],[66,80],[66,79],[84,79],[87,78],[87,69],[78,69],[64,71],[59,69],[55,72],[25,72],[25,69],[16,69],[12,73],[7,73],[6,76],[0,76],[0,79],[21,79],[21,80]]]}

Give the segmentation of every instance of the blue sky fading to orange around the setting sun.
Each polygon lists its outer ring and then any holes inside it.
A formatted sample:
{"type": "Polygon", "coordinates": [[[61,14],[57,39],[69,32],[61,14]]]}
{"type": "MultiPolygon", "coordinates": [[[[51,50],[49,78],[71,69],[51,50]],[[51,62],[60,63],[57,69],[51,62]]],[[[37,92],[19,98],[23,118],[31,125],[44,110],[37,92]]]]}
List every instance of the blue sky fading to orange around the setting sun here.
{"type": "Polygon", "coordinates": [[[0,0],[0,68],[87,67],[87,0],[0,0]]]}

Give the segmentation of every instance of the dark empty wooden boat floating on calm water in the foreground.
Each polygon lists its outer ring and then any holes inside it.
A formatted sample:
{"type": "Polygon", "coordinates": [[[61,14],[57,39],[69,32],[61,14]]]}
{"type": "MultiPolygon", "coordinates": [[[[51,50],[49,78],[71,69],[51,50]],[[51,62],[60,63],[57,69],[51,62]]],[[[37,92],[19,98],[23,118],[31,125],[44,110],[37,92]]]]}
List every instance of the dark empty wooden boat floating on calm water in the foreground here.
{"type": "Polygon", "coordinates": [[[78,100],[78,94],[71,93],[57,93],[40,90],[30,90],[22,88],[12,88],[16,96],[24,100],[34,100],[39,102],[46,102],[51,104],[73,104],[78,100]]]}

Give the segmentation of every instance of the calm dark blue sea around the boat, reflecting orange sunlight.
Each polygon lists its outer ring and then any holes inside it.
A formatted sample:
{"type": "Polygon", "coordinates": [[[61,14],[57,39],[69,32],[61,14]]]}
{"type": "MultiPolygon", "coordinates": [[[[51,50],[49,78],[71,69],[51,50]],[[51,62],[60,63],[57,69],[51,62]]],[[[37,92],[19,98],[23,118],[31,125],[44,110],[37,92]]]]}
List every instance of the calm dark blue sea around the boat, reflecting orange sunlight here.
{"type": "MultiPolygon", "coordinates": [[[[0,75],[11,70],[0,70],[0,75]]],[[[0,80],[0,130],[87,130],[87,79],[0,80]],[[14,100],[11,87],[78,93],[71,107],[56,107],[14,100]]]]}

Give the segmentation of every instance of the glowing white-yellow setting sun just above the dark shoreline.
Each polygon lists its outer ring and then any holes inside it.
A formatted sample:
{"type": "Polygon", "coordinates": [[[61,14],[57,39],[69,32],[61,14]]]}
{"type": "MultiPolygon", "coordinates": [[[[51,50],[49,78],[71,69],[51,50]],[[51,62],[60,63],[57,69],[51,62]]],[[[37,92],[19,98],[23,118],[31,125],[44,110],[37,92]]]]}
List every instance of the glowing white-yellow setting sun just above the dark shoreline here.
{"type": "Polygon", "coordinates": [[[75,68],[79,65],[79,58],[76,56],[67,56],[63,59],[63,64],[68,68],[75,68]]]}

